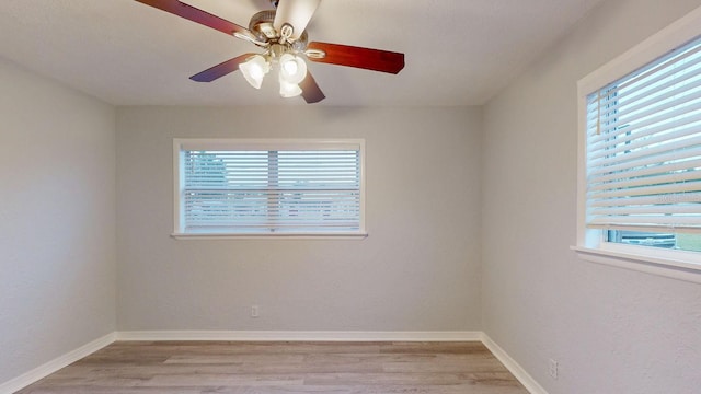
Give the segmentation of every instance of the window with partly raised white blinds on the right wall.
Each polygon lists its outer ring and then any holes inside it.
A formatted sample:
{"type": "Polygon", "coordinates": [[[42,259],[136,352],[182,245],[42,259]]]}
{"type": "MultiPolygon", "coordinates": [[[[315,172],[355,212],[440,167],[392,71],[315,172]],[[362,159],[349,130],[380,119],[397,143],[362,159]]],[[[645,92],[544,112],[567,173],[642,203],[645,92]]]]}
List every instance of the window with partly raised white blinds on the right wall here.
{"type": "Polygon", "coordinates": [[[700,10],[579,81],[579,248],[701,270],[700,10]]]}

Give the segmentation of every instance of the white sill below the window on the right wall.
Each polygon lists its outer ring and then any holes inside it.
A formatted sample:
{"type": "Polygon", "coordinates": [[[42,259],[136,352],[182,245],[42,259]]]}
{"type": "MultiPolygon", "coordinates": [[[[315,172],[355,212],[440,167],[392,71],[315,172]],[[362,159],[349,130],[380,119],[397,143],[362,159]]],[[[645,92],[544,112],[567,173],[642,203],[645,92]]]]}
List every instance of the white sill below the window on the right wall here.
{"type": "Polygon", "coordinates": [[[619,251],[571,246],[579,258],[612,267],[701,283],[701,264],[692,260],[644,256],[619,251]]]}

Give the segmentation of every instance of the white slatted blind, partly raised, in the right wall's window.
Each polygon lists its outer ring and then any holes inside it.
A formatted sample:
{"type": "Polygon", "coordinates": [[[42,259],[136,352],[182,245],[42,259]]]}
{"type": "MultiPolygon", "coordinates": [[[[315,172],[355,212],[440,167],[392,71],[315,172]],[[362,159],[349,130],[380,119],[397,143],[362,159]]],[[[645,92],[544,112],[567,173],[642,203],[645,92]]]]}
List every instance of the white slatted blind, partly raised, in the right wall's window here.
{"type": "Polygon", "coordinates": [[[587,96],[587,227],[701,232],[701,39],[587,96]]]}

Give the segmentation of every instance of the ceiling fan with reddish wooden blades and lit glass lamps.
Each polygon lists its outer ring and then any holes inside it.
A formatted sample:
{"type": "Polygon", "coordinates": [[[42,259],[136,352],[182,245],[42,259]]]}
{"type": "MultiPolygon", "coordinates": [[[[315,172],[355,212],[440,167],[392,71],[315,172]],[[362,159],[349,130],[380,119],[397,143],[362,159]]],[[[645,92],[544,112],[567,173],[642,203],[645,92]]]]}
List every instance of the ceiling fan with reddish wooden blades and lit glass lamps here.
{"type": "Polygon", "coordinates": [[[241,70],[245,80],[253,88],[260,89],[265,74],[276,66],[279,70],[280,95],[301,95],[311,104],[322,101],[325,95],[308,71],[304,59],[394,74],[404,68],[404,54],[340,44],[309,43],[307,24],[321,0],[271,0],[275,9],[254,14],[249,28],[179,0],[136,1],[263,48],[261,54],[237,56],[189,78],[197,82],[211,82],[241,70]]]}

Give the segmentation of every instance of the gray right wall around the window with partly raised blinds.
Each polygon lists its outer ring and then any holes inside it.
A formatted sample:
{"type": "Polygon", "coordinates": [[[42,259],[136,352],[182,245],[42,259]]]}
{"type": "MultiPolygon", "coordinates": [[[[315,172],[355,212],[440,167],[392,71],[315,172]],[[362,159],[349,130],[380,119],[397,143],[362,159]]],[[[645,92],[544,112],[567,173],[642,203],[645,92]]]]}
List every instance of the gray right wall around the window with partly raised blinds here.
{"type": "Polygon", "coordinates": [[[577,80],[700,4],[607,1],[484,108],[484,331],[552,394],[701,386],[701,287],[568,250],[577,80]]]}

